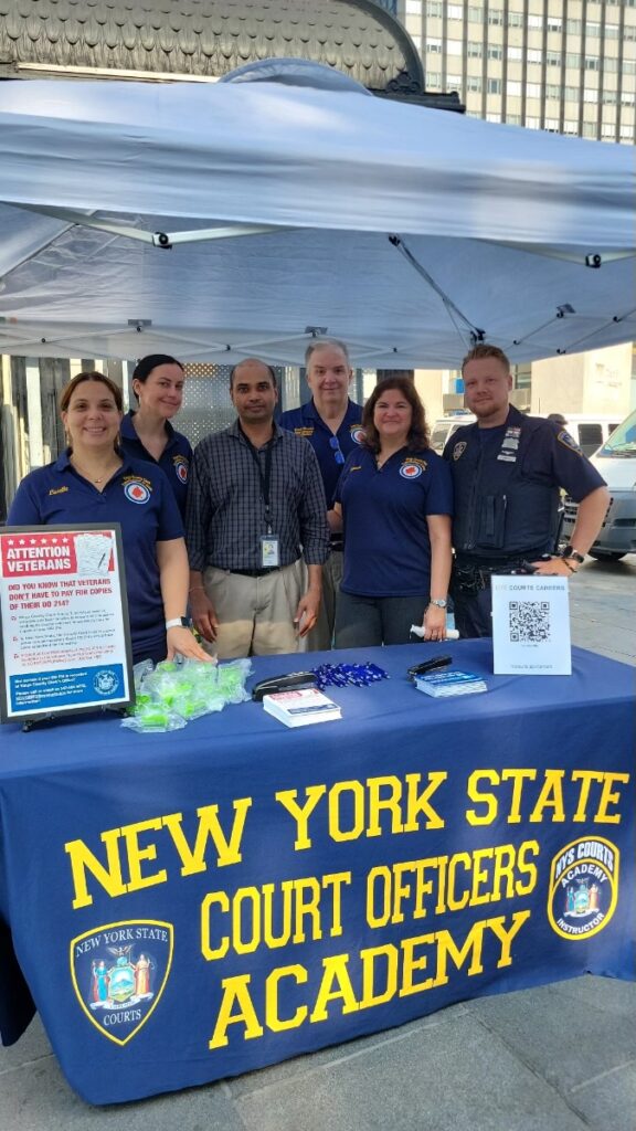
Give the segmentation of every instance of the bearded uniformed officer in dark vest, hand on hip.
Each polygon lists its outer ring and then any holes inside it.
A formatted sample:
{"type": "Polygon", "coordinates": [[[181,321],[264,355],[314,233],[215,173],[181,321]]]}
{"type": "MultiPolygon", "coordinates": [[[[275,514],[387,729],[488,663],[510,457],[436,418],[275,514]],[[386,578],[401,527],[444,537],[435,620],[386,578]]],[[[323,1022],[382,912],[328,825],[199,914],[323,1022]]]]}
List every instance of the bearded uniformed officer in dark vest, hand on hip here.
{"type": "Polygon", "coordinates": [[[532,562],[536,573],[570,577],[599,533],[609,503],[604,481],[576,441],[552,421],[508,402],[510,364],[497,346],[475,346],[462,363],[474,424],[444,449],[455,489],[453,598],[463,637],[492,634],[492,573],[532,562]],[[555,549],[560,487],[579,503],[571,545],[555,549]]]}

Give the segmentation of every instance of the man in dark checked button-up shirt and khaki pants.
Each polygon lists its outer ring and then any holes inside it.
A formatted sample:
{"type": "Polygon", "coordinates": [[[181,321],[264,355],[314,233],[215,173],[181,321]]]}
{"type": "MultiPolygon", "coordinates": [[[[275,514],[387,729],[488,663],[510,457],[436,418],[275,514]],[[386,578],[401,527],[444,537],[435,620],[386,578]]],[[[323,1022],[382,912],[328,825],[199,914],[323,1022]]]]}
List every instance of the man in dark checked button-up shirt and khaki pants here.
{"type": "Polygon", "coordinates": [[[316,623],[328,555],[320,468],[310,444],[274,422],[269,365],[239,362],[230,396],[238,420],[201,440],[192,460],[192,619],[220,659],[296,651],[316,623]]]}

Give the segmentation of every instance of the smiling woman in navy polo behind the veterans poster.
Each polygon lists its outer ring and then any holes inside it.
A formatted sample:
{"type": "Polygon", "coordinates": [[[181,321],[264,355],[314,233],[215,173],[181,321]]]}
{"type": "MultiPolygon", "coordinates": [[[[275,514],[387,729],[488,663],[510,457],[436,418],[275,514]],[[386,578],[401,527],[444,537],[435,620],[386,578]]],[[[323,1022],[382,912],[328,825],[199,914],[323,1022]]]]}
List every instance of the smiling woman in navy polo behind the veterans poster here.
{"type": "Polygon", "coordinates": [[[78,373],[60,409],[69,446],[23,480],[8,524],[119,523],[134,662],[175,653],[209,659],[182,623],[189,567],[174,495],[156,464],[119,447],[121,390],[102,373],[78,373]]]}

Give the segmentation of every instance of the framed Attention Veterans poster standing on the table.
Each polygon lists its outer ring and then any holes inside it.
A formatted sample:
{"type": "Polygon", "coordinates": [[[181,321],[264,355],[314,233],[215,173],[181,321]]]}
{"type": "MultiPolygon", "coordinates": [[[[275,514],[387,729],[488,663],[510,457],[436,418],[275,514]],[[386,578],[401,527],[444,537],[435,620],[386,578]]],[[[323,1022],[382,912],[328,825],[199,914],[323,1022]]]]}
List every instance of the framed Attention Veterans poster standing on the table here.
{"type": "Polygon", "coordinates": [[[118,523],[0,529],[0,722],[135,699],[118,523]]]}

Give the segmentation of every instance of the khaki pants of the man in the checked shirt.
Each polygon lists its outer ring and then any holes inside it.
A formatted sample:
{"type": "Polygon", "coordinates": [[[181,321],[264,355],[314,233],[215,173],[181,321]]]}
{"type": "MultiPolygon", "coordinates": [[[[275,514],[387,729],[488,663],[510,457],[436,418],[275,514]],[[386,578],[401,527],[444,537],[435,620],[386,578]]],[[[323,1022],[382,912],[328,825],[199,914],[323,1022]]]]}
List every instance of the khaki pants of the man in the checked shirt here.
{"type": "Polygon", "coordinates": [[[264,577],[242,577],[209,566],[204,586],[218,618],[209,650],[218,659],[298,651],[293,618],[304,592],[302,572],[300,559],[264,577]]]}

